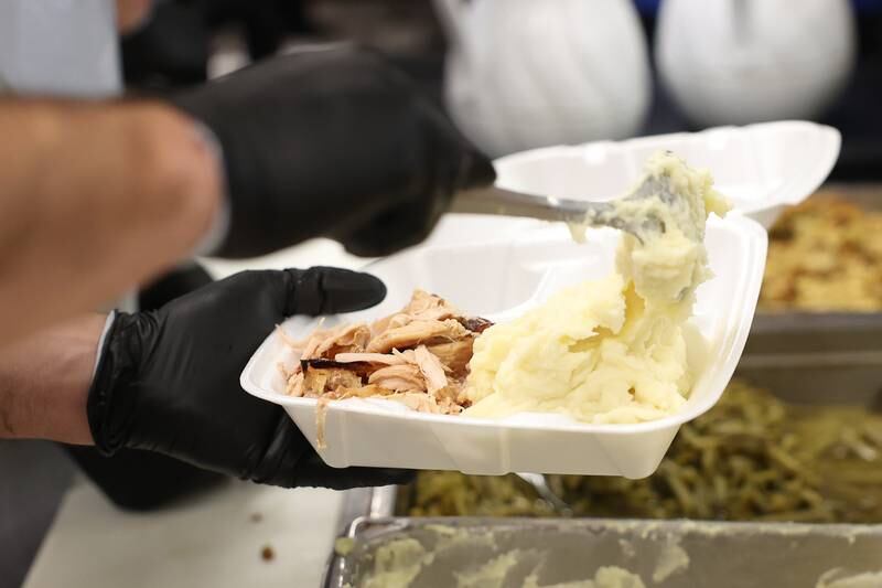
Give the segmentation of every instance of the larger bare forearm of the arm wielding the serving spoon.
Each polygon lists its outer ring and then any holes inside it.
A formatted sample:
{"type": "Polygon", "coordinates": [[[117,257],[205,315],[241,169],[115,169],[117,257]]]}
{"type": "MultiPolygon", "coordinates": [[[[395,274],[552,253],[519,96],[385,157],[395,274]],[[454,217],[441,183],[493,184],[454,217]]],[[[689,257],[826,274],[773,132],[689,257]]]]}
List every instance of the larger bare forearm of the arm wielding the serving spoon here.
{"type": "Polygon", "coordinates": [[[169,107],[0,100],[0,346],[190,254],[220,184],[169,107]]]}

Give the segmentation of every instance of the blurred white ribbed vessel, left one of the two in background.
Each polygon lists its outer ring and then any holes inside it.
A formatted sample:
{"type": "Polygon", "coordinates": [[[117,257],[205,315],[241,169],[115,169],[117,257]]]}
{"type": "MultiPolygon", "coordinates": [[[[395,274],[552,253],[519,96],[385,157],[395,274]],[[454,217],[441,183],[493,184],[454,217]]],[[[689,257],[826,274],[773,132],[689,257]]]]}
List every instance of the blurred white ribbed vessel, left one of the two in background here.
{"type": "Polygon", "coordinates": [[[622,139],[649,107],[631,0],[435,0],[451,40],[448,108],[492,157],[622,139]]]}

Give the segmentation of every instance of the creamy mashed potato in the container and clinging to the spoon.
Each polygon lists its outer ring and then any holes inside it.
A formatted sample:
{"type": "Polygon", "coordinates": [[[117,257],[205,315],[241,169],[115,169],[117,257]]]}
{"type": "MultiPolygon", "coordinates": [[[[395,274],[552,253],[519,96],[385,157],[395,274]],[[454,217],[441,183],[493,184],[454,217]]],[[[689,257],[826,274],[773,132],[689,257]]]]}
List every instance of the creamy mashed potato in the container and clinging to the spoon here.
{"type": "MultiPolygon", "coordinates": [[[[679,197],[619,200],[619,216],[652,215],[664,232],[623,234],[616,270],[558,292],[487,329],[474,345],[464,415],[563,413],[585,423],[639,423],[676,413],[691,388],[684,323],[710,277],[704,223],[725,201],[707,171],[670,153],[646,173],[679,197]]],[[[574,234],[584,234],[584,227],[574,234]]]]}

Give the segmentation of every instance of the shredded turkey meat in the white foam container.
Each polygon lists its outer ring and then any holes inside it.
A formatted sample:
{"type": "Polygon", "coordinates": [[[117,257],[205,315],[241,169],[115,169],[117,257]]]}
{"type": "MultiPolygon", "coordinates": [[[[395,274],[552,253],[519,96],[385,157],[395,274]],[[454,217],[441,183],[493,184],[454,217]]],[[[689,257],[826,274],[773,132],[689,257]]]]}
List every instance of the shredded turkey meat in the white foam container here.
{"type": "Polygon", "coordinates": [[[320,324],[303,341],[281,332],[299,361],[280,368],[289,395],[319,398],[323,407],[330,400],[381,397],[422,413],[455,415],[469,406],[464,384],[474,339],[490,324],[416,290],[400,312],[372,324],[320,324]]]}

